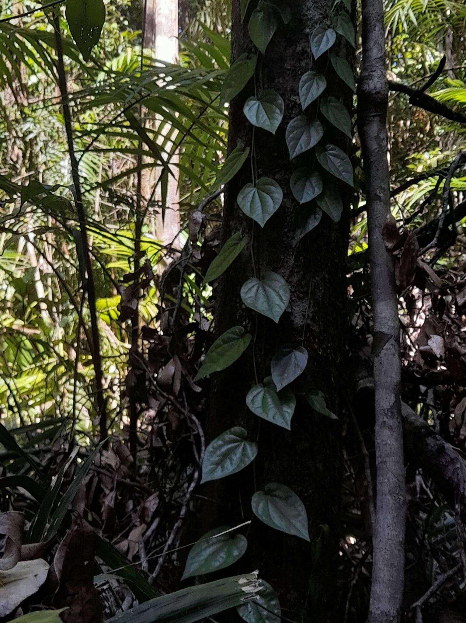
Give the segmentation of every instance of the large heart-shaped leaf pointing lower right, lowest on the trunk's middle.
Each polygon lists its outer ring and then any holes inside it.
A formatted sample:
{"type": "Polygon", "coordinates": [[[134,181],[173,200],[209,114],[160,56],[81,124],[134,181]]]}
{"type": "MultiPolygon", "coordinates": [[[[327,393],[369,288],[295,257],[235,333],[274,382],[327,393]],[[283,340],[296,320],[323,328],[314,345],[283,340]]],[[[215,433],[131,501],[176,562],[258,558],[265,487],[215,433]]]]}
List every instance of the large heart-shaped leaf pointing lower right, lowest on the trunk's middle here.
{"type": "Polygon", "coordinates": [[[254,515],[267,526],[310,541],[306,509],[289,487],[269,483],[264,491],[254,493],[251,505],[254,515]]]}

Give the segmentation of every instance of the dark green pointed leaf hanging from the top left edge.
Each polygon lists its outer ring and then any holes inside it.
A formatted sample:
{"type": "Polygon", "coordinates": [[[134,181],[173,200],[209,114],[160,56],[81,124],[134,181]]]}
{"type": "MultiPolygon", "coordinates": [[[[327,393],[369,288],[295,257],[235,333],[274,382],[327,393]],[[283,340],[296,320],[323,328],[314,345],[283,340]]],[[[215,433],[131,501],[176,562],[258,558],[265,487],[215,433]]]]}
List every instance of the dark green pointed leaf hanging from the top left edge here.
{"type": "Polygon", "coordinates": [[[103,0],[68,0],[65,16],[75,44],[87,62],[105,23],[105,4],[103,0]]]}

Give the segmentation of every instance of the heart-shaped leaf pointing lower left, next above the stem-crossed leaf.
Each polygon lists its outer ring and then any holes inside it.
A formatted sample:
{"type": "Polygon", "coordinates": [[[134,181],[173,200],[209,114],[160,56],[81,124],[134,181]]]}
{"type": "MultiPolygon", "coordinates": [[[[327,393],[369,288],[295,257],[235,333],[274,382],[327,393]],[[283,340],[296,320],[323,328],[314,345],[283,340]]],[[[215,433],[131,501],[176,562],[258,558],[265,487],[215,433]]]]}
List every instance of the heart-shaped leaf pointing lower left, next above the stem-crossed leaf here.
{"type": "Polygon", "coordinates": [[[222,432],[206,448],[202,462],[202,482],[219,480],[254,461],[257,444],[247,441],[247,432],[239,426],[222,432]]]}

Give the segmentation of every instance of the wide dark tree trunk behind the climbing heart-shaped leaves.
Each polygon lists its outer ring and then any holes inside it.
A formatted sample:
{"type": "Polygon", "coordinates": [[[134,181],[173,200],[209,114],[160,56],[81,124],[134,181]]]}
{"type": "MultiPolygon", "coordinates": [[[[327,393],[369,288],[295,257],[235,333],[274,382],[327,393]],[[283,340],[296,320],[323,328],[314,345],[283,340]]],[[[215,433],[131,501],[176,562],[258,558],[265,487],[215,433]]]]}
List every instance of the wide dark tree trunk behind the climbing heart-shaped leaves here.
{"type": "MultiPolygon", "coordinates": [[[[244,51],[252,51],[246,17],[241,24],[239,0],[232,3],[232,61],[244,51]]],[[[251,3],[253,4],[253,3],[251,3]]],[[[293,248],[295,225],[293,219],[298,204],[290,191],[290,177],[298,166],[312,170],[314,150],[290,163],[285,130],[293,118],[302,114],[298,85],[313,65],[325,72],[325,95],[338,97],[351,110],[351,92],[341,82],[323,55],[315,63],[310,52],[310,34],[319,24],[330,26],[333,0],[307,0],[292,4],[292,20],[275,33],[262,63],[262,85],[273,88],[285,102],[285,116],[275,136],[255,130],[258,177],[275,179],[283,189],[283,203],[260,229],[246,217],[236,204],[244,184],[250,183],[249,161],[227,188],[224,204],[223,241],[235,232],[254,240],[254,258],[260,272],[280,273],[291,290],[287,311],[278,325],[245,308],[240,299],[242,284],[253,276],[249,247],[235,260],[224,275],[217,290],[217,335],[235,325],[242,325],[255,335],[257,376],[262,383],[270,375],[270,360],[278,345],[294,347],[302,343],[309,361],[302,375],[302,391],[307,386],[323,391],[328,405],[340,414],[345,384],[345,335],[348,326],[346,310],[346,254],[348,249],[349,200],[351,189],[336,178],[325,178],[341,191],[345,204],[338,224],[323,214],[320,224],[293,248]]],[[[341,44],[337,40],[333,50],[341,44]]],[[[347,50],[348,57],[351,52],[347,50]]],[[[243,114],[245,99],[254,93],[252,81],[244,92],[231,102],[229,150],[239,141],[251,146],[252,126],[243,114]]],[[[307,111],[316,116],[316,103],[307,111]]],[[[320,117],[321,118],[321,117],[320,117]]],[[[325,121],[325,120],[323,120],[325,121]]],[[[325,123],[321,141],[340,146],[346,153],[349,140],[343,133],[325,123]]],[[[305,206],[305,209],[311,209],[305,206]]],[[[250,497],[268,482],[280,482],[302,498],[310,521],[311,541],[321,538],[321,553],[313,564],[311,545],[295,536],[287,536],[265,526],[257,518],[247,535],[249,566],[259,568],[260,576],[280,594],[282,607],[298,612],[311,612],[316,623],[335,620],[338,607],[336,572],[338,569],[338,538],[341,485],[341,422],[328,419],[313,411],[302,396],[297,396],[297,409],[288,432],[260,419],[246,407],[245,397],[255,384],[252,348],[224,373],[212,375],[211,416],[208,438],[212,440],[232,426],[244,426],[259,440],[259,455],[254,468],[237,476],[206,485],[201,493],[209,498],[202,511],[207,531],[224,523],[252,518],[250,497]],[[259,432],[260,428],[260,432],[259,432]],[[325,527],[327,526],[327,528],[325,527]],[[326,536],[328,534],[328,536],[326,536]]],[[[242,568],[249,568],[245,561],[242,568]]]]}

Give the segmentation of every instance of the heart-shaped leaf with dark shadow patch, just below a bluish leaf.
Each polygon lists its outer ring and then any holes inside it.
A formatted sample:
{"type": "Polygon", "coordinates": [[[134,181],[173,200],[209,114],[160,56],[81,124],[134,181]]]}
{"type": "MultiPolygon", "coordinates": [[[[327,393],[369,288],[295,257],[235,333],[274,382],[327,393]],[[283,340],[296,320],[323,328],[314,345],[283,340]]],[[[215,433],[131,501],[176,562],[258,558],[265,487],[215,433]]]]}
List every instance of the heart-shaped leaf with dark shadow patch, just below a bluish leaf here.
{"type": "Polygon", "coordinates": [[[255,385],[248,392],[246,404],[256,416],[290,430],[296,407],[295,394],[289,388],[278,393],[271,376],[264,379],[264,385],[255,385]]]}

